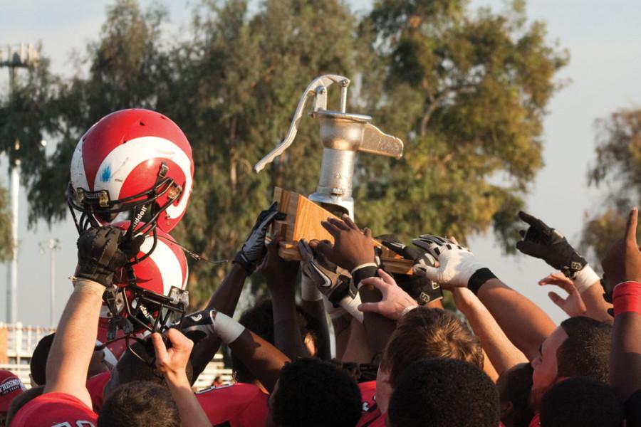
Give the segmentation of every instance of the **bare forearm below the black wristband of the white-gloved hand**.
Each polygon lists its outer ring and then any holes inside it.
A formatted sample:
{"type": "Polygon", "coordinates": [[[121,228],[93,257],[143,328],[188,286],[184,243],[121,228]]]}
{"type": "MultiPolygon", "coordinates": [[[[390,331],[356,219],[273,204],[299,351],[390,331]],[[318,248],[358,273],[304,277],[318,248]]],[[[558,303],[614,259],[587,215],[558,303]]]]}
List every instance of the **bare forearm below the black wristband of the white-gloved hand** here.
{"type": "Polygon", "coordinates": [[[508,339],[529,360],[534,359],[538,346],[556,327],[546,312],[499,279],[487,280],[477,296],[508,339]]]}

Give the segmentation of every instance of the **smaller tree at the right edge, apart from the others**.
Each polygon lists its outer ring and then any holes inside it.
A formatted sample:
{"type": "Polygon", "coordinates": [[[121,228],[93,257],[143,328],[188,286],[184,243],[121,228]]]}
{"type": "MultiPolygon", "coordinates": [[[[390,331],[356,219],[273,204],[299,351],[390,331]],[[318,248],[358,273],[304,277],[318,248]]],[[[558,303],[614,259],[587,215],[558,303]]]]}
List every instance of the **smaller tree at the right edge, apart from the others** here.
{"type": "Polygon", "coordinates": [[[625,231],[630,208],[641,199],[641,110],[623,109],[595,122],[596,162],[588,184],[605,187],[603,209],[587,214],[581,246],[600,265],[625,231]]]}

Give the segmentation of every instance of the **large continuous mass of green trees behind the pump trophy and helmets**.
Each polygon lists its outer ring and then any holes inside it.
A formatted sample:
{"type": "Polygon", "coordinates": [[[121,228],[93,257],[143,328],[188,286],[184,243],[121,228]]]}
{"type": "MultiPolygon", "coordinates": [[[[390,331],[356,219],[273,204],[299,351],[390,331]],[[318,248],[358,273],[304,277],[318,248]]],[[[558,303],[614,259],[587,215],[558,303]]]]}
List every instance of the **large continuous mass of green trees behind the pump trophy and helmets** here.
{"type": "MultiPolygon", "coordinates": [[[[25,94],[40,91],[38,102],[3,102],[14,117],[31,117],[23,137],[45,131],[58,142],[51,158],[40,153],[29,166],[31,221],[66,215],[61,165],[95,120],[148,107],[177,122],[192,144],[194,191],[174,237],[206,258],[232,258],[273,186],[315,189],[321,147],[312,120],[264,172],[251,167],[286,134],[311,79],[334,73],[360,83],[348,111],[372,113],[405,141],[400,161],[359,157],[358,223],[461,241],[494,226],[506,248],[516,237],[515,212],[542,164],[553,75],[566,62],[543,23],[526,25],[521,1],[497,15],[472,14],[459,0],[385,0],[358,21],[339,0],[264,0],[254,14],[243,0],[205,0],[182,41],[163,38],[166,18],[162,9],[115,1],[82,58],[86,75],[57,78],[44,63],[20,83],[25,94]]],[[[2,135],[14,135],[12,123],[1,122],[2,135]]],[[[227,267],[191,265],[194,302],[227,267]]]]}

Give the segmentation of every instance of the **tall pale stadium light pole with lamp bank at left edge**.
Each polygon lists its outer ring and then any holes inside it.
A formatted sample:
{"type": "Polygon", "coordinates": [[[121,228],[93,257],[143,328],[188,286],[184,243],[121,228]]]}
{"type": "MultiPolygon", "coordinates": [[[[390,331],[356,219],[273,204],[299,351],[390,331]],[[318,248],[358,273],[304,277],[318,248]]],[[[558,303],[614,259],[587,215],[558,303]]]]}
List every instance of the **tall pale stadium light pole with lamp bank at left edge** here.
{"type": "MultiPolygon", "coordinates": [[[[6,58],[0,51],[0,67],[9,68],[9,99],[16,85],[18,68],[34,68],[38,56],[33,45],[24,43],[16,46],[7,46],[6,58]]],[[[6,321],[15,324],[18,321],[18,194],[20,190],[20,141],[14,142],[14,161],[11,162],[9,154],[9,199],[11,200],[11,265],[7,268],[6,280],[6,321]]]]}

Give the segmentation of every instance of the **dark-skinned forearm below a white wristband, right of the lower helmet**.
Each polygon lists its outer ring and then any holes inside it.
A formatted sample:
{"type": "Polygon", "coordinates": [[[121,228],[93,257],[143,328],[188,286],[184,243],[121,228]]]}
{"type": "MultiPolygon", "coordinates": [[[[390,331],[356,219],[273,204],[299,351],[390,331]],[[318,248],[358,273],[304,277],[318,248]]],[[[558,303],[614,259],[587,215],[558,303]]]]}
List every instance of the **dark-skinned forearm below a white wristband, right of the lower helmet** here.
{"type": "Polygon", "coordinates": [[[290,360],[250,330],[244,330],[238,338],[229,343],[229,348],[269,392],[276,385],[281,369],[290,360]]]}

